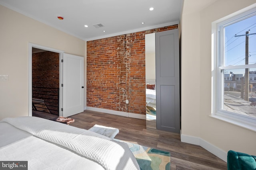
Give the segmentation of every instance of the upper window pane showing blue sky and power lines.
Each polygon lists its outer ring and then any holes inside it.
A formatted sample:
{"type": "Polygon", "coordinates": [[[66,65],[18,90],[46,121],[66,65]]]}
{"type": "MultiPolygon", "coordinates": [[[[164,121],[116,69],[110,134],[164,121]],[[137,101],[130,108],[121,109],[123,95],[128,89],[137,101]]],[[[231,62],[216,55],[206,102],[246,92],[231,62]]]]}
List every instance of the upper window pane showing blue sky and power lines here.
{"type": "Polygon", "coordinates": [[[254,34],[256,33],[256,15],[254,15],[224,27],[224,66],[246,64],[246,32],[249,34],[248,64],[256,63],[256,35],[254,34]]]}

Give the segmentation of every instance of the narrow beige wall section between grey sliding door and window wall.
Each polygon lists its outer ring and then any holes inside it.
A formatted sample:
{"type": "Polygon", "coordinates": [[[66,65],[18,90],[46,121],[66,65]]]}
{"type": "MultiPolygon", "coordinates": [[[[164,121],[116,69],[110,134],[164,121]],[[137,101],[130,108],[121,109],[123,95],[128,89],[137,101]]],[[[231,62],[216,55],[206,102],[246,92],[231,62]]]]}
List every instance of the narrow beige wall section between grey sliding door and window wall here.
{"type": "Polygon", "coordinates": [[[200,136],[200,19],[199,13],[182,16],[181,33],[181,129],[200,136]],[[191,27],[193,25],[193,27],[191,27]],[[193,106],[193,107],[190,107],[193,106]],[[193,126],[189,126],[194,122],[193,126]]]}

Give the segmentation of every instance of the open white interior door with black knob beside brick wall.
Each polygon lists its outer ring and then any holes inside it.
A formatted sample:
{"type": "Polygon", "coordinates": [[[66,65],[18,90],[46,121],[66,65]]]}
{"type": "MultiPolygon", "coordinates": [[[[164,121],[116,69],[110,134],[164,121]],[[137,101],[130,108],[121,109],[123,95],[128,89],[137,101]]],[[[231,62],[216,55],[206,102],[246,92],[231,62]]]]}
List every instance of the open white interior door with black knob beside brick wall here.
{"type": "Polygon", "coordinates": [[[63,54],[63,116],[84,111],[84,57],[63,54]]]}

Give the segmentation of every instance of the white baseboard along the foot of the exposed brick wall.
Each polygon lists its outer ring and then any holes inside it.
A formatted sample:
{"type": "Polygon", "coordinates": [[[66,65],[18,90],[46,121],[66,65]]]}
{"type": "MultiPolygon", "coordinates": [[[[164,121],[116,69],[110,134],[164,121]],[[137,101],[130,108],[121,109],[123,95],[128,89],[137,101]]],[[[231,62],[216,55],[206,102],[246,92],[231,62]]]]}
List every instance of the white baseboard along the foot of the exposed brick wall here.
{"type": "Polygon", "coordinates": [[[102,109],[102,108],[96,108],[96,107],[84,107],[84,110],[90,110],[90,111],[99,111],[103,113],[108,113],[112,115],[119,115],[124,117],[132,117],[136,119],[144,119],[146,120],[146,115],[136,114],[136,113],[129,113],[124,111],[116,111],[116,110],[110,110],[110,109],[102,109]]]}

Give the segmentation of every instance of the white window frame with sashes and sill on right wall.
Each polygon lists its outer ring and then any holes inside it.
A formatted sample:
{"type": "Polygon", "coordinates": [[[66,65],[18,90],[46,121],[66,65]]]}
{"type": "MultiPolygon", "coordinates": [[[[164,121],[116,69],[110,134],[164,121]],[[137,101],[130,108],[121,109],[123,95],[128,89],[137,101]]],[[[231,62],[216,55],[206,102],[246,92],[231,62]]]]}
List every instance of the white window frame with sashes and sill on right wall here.
{"type": "Polygon", "coordinates": [[[256,119],[221,109],[224,104],[224,82],[222,82],[224,81],[224,73],[221,70],[256,67],[256,64],[248,64],[246,67],[245,65],[224,66],[224,48],[221,48],[224,46],[223,28],[249,18],[255,13],[256,8],[254,6],[249,10],[241,10],[240,14],[232,14],[224,19],[212,22],[212,114],[210,116],[256,132],[256,119]]]}

